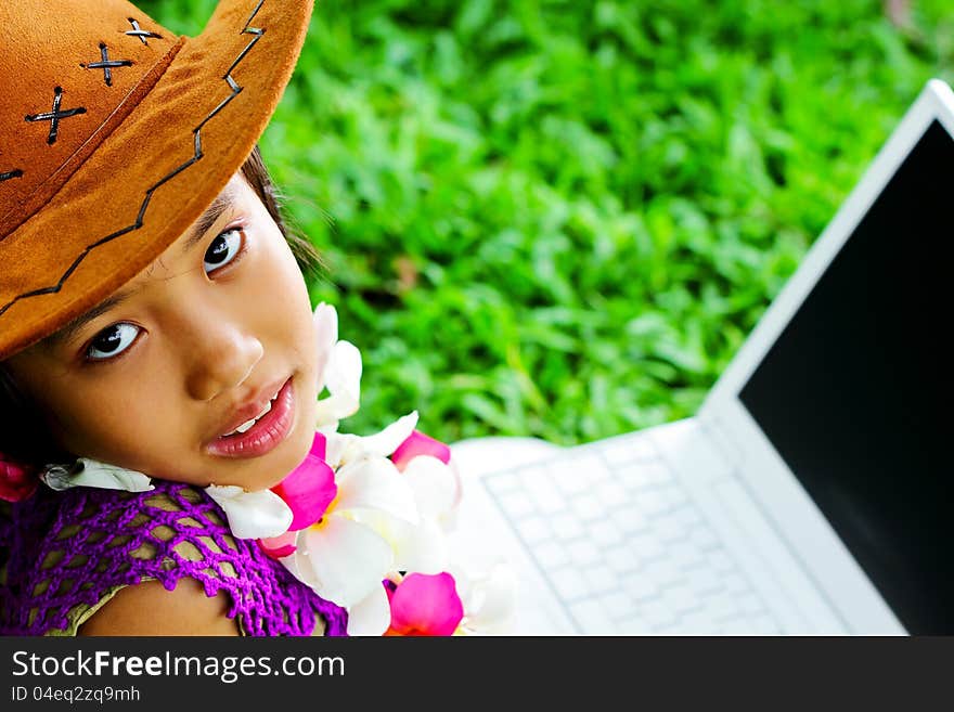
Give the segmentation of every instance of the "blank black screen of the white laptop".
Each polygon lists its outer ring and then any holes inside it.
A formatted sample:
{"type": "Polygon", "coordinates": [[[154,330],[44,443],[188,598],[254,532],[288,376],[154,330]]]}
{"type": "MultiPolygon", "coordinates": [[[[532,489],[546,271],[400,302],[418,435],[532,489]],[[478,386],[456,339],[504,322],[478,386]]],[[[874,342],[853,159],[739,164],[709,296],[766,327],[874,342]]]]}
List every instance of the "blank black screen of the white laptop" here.
{"type": "Polygon", "coordinates": [[[952,245],[934,121],[739,394],[912,634],[954,634],[952,245]]]}

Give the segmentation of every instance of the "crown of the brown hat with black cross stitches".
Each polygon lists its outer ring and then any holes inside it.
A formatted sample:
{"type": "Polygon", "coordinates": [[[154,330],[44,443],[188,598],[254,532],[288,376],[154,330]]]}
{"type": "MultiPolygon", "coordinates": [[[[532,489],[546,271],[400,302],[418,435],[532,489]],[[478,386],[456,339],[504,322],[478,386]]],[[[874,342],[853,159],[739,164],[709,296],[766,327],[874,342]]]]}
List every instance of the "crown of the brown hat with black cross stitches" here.
{"type": "Polygon", "coordinates": [[[132,109],[176,40],[125,0],[0,3],[0,240],[132,109]]]}

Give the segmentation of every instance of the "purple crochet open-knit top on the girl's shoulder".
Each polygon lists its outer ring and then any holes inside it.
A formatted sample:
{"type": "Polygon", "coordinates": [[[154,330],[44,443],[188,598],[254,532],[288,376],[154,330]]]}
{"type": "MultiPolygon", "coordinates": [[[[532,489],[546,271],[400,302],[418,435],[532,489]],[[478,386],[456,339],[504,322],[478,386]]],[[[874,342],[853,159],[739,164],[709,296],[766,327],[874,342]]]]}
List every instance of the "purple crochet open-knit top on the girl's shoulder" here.
{"type": "Polygon", "coordinates": [[[208,596],[228,592],[229,618],[246,635],[310,635],[317,614],[325,635],[346,635],[347,611],[257,542],[235,539],[204,491],[153,483],[137,493],[40,487],[9,516],[0,512],[0,634],[65,631],[77,607],[100,604],[116,586],[155,579],[172,590],[189,577],[208,596]]]}

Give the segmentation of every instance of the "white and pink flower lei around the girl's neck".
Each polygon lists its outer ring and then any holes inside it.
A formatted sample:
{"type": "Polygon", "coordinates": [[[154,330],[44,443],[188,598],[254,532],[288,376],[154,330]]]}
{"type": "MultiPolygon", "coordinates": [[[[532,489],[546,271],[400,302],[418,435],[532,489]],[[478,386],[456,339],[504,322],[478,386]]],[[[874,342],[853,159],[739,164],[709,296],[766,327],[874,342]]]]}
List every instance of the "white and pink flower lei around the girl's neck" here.
{"type": "MultiPolygon", "coordinates": [[[[348,610],[349,635],[451,635],[506,631],[510,572],[474,573],[451,561],[446,535],[461,502],[451,450],[416,429],[416,411],[372,436],[338,432],[358,411],[361,353],[338,340],[334,307],[314,310],[325,362],[317,430],[305,459],[271,490],[216,486],[206,492],[232,533],[256,539],[318,595],[348,610]]],[[[145,492],[151,478],[90,458],[48,465],[37,478],[0,454],[0,499],[30,496],[37,479],[72,487],[145,492]]]]}

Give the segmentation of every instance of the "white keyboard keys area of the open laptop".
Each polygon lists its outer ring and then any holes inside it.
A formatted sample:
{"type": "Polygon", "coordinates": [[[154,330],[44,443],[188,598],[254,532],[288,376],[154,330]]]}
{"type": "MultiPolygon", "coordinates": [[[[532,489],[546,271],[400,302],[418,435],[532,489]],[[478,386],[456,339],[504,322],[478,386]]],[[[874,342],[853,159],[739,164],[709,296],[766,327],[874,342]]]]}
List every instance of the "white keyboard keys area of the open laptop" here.
{"type": "Polygon", "coordinates": [[[601,444],[485,479],[578,632],[778,634],[665,461],[601,444]]]}

